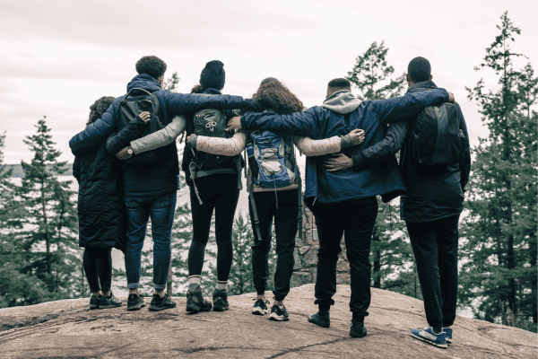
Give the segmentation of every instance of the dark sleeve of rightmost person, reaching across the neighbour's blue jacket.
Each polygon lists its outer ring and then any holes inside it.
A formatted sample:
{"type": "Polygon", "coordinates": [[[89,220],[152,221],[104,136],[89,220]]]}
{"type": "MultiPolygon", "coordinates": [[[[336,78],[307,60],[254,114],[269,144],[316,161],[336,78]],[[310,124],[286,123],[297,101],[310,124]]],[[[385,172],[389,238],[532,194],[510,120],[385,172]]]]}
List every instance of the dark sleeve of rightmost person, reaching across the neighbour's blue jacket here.
{"type": "Polygon", "coordinates": [[[385,138],[352,157],[353,166],[360,169],[364,166],[376,164],[400,151],[404,146],[408,128],[409,121],[400,121],[390,125],[386,131],[385,138]]]}

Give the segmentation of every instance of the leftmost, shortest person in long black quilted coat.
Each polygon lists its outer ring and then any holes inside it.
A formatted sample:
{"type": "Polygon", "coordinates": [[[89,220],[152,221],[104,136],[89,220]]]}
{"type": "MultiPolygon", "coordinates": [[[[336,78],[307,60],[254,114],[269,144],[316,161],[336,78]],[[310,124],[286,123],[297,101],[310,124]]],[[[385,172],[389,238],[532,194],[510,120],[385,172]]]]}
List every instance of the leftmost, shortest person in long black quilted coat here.
{"type": "MultiPolygon", "coordinates": [[[[91,105],[91,125],[108,109],[113,97],[102,97],[91,105]]],[[[145,125],[143,115],[131,126],[145,125]]],[[[138,134],[136,134],[137,136],[138,134]]],[[[133,135],[131,135],[133,136],[133,135]]],[[[83,266],[91,290],[90,309],[113,308],[121,301],[110,291],[113,247],[125,250],[126,211],[121,191],[121,166],[107,152],[105,142],[75,153],[73,174],[79,184],[79,246],[84,248],[83,266]]]]}

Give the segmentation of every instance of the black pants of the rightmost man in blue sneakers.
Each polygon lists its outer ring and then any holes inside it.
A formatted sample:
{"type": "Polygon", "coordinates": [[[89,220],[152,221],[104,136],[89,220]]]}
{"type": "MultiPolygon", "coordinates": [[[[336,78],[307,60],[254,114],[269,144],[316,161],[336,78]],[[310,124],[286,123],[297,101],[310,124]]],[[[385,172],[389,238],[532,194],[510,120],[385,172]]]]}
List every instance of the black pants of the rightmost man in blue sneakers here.
{"type": "Polygon", "coordinates": [[[431,222],[406,222],[417,262],[430,327],[448,327],[456,319],[457,223],[459,215],[431,222]]]}

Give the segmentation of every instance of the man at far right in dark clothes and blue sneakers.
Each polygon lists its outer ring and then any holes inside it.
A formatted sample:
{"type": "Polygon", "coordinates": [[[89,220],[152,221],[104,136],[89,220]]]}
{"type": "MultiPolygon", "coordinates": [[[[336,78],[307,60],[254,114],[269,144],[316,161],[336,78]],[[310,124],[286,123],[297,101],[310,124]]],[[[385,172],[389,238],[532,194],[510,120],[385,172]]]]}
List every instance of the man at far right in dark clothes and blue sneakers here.
{"type": "MultiPolygon", "coordinates": [[[[430,62],[413,58],[406,75],[408,93],[437,89],[432,80],[430,62]]],[[[471,171],[469,136],[464,115],[457,103],[459,129],[464,134],[464,151],[459,163],[428,166],[412,161],[405,138],[410,121],[399,122],[383,141],[357,153],[352,159],[331,160],[332,169],[356,169],[371,166],[401,148],[400,166],[406,192],[400,200],[400,217],[407,225],[412,250],[417,262],[426,320],[430,328],[412,329],[413,337],[439,347],[452,342],[456,319],[458,221],[464,208],[464,188],[471,171]]],[[[396,124],[392,125],[395,126],[396,124]]],[[[390,132],[390,131],[389,131],[390,132]]]]}

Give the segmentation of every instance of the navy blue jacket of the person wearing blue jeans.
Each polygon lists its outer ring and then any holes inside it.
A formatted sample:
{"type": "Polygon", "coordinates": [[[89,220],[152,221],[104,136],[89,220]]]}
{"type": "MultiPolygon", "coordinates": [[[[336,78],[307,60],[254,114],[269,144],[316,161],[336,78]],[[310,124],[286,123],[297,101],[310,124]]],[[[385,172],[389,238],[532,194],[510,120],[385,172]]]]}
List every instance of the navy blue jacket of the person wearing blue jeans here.
{"type": "MultiPolygon", "coordinates": [[[[199,109],[240,109],[243,99],[240,96],[196,96],[161,90],[161,86],[149,74],[138,74],[127,84],[127,92],[134,88],[153,92],[161,104],[162,122],[168,125],[171,119],[185,112],[199,109]]],[[[133,93],[135,94],[135,93],[133,93]]],[[[119,106],[124,96],[118,97],[100,119],[70,141],[71,151],[76,153],[84,148],[103,143],[108,136],[119,128],[119,106]]],[[[124,171],[124,192],[126,196],[160,196],[174,192],[179,186],[179,162],[176,144],[163,148],[161,161],[143,167],[134,167],[122,162],[124,171]]],[[[116,154],[116,153],[114,153],[116,154]]]]}

